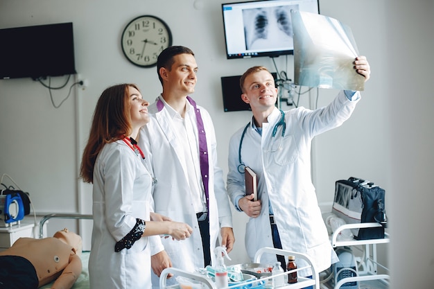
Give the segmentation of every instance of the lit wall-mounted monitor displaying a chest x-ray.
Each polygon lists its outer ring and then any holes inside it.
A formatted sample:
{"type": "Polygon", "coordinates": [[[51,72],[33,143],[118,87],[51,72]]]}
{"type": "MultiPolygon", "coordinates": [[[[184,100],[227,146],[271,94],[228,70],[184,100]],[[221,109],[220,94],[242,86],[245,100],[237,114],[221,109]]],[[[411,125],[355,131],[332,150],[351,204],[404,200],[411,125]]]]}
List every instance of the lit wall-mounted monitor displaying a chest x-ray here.
{"type": "Polygon", "coordinates": [[[294,53],[290,10],[319,13],[319,0],[223,3],[226,57],[277,57],[294,53]]]}

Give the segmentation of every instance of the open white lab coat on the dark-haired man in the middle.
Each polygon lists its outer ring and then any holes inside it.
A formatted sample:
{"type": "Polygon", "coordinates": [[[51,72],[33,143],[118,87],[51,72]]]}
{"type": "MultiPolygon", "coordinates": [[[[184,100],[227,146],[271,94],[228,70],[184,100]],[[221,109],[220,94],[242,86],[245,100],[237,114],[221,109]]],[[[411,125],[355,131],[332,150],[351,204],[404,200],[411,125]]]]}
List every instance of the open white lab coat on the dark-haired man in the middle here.
{"type": "MultiPolygon", "coordinates": [[[[188,110],[193,112],[193,106],[188,101],[187,105],[188,110]]],[[[232,227],[232,212],[225,190],[223,171],[217,166],[214,126],[209,113],[203,107],[198,106],[198,109],[205,125],[209,152],[209,234],[211,262],[214,262],[214,248],[218,241],[220,227],[232,227]]],[[[139,146],[144,150],[147,161],[151,164],[157,178],[157,184],[153,190],[155,212],[177,222],[186,222],[193,228],[193,234],[186,240],[177,241],[172,238],[161,238],[160,240],[174,268],[193,272],[196,268],[205,267],[202,238],[187,178],[187,175],[193,172],[186,171],[182,166],[180,155],[183,153],[183,144],[176,137],[172,116],[166,106],[159,112],[156,103],[153,103],[148,107],[148,112],[150,121],[141,128],[139,146]]],[[[197,137],[196,123],[193,123],[193,129],[197,137]]],[[[152,254],[161,251],[159,240],[151,243],[153,244],[152,254]]],[[[158,277],[153,274],[153,286],[156,286],[155,281],[157,280],[158,277]]],[[[173,281],[173,279],[168,279],[167,283],[170,285],[173,281]]]]}

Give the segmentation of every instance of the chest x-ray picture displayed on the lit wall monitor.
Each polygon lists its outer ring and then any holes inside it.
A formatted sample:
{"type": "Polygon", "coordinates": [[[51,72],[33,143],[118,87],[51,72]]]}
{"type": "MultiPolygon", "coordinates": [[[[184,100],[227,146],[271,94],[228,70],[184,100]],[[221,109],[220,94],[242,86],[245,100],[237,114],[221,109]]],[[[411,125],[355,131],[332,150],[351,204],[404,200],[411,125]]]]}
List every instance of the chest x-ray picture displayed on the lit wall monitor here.
{"type": "Polygon", "coordinates": [[[245,49],[292,49],[290,10],[298,10],[298,5],[243,9],[245,49]]]}

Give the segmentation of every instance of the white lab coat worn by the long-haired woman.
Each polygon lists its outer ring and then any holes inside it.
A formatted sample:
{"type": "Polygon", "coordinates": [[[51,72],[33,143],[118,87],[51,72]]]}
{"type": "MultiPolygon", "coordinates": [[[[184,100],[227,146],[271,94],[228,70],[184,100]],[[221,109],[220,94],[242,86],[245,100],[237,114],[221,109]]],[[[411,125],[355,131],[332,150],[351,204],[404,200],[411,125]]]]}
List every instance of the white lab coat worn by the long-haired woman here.
{"type": "Polygon", "coordinates": [[[94,166],[91,288],[149,289],[150,246],[141,237],[130,249],[114,252],[117,241],[150,220],[151,178],[140,157],[122,140],[107,143],[94,166]]]}

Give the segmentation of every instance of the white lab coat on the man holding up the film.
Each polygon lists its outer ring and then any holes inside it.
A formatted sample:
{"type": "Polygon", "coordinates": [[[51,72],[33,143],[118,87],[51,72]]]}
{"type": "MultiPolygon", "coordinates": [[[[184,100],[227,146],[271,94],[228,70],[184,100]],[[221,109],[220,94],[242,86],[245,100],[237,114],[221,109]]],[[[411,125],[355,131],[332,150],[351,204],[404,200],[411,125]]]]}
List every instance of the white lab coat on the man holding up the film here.
{"type": "MultiPolygon", "coordinates": [[[[258,194],[262,202],[260,216],[250,218],[245,230],[245,247],[252,261],[261,247],[274,247],[268,213],[269,199],[283,249],[309,255],[319,271],[338,261],[311,182],[311,141],[316,135],[341,125],[355,106],[356,101],[348,100],[341,91],[327,107],[314,111],[304,107],[289,110],[285,112],[286,132],[283,139],[281,126],[272,137],[272,130],[281,119],[277,108],[268,116],[268,123],[262,124],[262,137],[250,123],[243,139],[241,160],[258,174],[258,194]],[[280,141],[281,149],[272,152],[280,141]]],[[[244,175],[238,173],[238,148],[243,129],[238,130],[229,141],[227,192],[234,205],[237,196],[244,195],[245,191],[244,175]]],[[[261,261],[272,264],[276,258],[268,254],[261,261]]],[[[301,268],[306,263],[299,260],[297,265],[301,268]]],[[[309,276],[311,270],[302,270],[299,274],[309,276]]]]}

